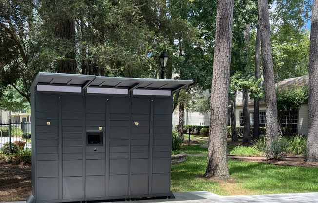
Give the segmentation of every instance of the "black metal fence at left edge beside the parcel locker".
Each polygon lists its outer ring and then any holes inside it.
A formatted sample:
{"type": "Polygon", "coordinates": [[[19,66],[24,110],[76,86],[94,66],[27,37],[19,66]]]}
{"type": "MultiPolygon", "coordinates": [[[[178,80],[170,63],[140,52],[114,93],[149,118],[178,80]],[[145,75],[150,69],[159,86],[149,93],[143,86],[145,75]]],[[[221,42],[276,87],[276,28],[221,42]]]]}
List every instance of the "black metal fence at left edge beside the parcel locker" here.
{"type": "Polygon", "coordinates": [[[31,122],[0,123],[0,156],[31,149],[31,122]]]}

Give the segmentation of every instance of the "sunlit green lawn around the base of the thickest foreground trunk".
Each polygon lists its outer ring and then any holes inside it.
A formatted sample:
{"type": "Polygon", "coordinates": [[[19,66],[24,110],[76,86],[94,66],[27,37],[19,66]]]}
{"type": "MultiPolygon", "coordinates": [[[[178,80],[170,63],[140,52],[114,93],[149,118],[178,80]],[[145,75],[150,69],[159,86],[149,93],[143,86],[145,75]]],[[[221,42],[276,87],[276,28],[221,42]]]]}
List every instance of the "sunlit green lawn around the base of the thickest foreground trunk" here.
{"type": "Polygon", "coordinates": [[[219,195],[275,194],[318,191],[318,168],[277,166],[229,160],[229,181],[206,180],[206,157],[187,157],[172,166],[172,192],[206,190],[219,195]]]}

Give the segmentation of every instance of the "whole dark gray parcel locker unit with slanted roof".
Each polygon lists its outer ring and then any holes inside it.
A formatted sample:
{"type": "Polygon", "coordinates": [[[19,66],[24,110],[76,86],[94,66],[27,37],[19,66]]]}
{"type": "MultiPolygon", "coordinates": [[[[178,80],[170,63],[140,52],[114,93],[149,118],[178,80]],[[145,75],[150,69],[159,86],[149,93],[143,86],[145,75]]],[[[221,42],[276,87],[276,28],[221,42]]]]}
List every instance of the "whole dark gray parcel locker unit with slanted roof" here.
{"type": "Polygon", "coordinates": [[[190,83],[39,73],[27,203],[173,197],[172,92],[190,83]]]}

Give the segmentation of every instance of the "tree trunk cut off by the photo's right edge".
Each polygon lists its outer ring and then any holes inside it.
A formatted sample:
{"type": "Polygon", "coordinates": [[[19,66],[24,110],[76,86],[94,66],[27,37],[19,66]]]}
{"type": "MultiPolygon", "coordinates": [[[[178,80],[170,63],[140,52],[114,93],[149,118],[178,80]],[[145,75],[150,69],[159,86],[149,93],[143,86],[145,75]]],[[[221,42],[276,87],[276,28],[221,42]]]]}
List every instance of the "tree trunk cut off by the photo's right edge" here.
{"type": "Polygon", "coordinates": [[[318,0],[313,1],[309,48],[308,139],[306,162],[318,162],[318,0]]]}

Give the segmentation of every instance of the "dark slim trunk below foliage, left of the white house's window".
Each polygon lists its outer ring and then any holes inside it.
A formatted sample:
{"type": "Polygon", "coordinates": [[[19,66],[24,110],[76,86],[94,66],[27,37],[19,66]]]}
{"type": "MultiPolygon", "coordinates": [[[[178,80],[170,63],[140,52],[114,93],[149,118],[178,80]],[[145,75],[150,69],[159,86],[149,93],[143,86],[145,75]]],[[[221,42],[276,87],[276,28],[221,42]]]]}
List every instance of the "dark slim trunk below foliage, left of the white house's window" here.
{"type": "Polygon", "coordinates": [[[243,88],[243,143],[250,142],[250,132],[251,132],[251,121],[250,121],[250,110],[248,108],[248,91],[243,88]]]}

